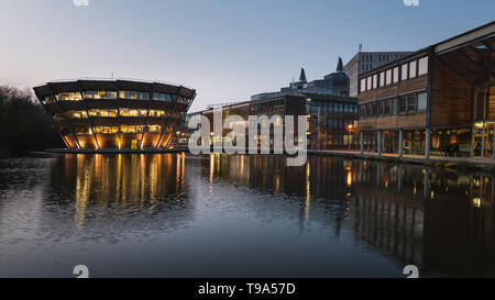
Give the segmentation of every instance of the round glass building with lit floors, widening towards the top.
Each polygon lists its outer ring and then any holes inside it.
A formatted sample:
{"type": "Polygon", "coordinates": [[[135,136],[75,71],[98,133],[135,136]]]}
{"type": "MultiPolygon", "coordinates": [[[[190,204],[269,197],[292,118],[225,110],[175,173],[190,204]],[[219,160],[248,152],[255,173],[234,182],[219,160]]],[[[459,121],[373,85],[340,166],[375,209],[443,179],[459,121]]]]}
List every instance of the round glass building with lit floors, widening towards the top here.
{"type": "Polygon", "coordinates": [[[164,149],[196,91],[121,79],[52,81],[34,92],[70,149],[164,149]]]}

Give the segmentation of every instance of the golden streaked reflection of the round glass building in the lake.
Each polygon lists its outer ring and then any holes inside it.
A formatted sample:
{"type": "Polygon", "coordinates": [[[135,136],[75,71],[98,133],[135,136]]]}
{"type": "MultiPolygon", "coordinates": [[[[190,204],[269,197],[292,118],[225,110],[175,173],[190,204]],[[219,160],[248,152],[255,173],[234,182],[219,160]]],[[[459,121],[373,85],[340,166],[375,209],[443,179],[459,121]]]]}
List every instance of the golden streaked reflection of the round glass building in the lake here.
{"type": "Polygon", "coordinates": [[[78,230],[84,229],[90,208],[96,208],[94,219],[102,218],[109,207],[113,212],[119,208],[121,218],[143,209],[151,215],[164,209],[187,209],[188,203],[176,204],[187,199],[185,155],[66,155],[54,162],[63,171],[54,173],[53,189],[74,192],[78,230]]]}

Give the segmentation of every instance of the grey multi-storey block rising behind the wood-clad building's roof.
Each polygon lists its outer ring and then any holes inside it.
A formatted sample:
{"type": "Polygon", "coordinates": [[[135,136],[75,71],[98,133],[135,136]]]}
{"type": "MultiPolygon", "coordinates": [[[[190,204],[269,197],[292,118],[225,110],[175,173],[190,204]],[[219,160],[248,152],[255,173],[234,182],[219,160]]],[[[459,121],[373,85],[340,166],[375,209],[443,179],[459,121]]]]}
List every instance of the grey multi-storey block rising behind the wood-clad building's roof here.
{"type": "Polygon", "coordinates": [[[384,64],[399,59],[413,52],[360,52],[344,66],[350,79],[349,96],[358,97],[358,78],[361,74],[377,68],[384,64]]]}

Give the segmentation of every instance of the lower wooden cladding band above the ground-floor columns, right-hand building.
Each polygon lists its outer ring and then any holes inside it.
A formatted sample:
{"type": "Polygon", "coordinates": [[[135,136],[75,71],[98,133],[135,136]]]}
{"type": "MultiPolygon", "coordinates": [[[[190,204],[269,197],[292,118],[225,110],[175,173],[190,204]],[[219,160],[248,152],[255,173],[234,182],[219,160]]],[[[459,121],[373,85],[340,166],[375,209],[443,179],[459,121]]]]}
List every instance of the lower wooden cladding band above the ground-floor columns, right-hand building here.
{"type": "Polygon", "coordinates": [[[378,116],[362,119],[358,122],[360,130],[397,130],[425,127],[427,122],[426,112],[403,115],[378,116]]]}

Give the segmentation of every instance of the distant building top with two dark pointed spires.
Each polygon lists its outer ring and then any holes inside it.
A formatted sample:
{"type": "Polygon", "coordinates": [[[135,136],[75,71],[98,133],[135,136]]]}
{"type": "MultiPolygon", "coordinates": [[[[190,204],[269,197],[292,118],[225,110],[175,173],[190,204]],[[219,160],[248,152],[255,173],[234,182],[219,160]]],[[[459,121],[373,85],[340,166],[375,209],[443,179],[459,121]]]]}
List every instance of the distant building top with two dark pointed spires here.
{"type": "Polygon", "coordinates": [[[288,87],[282,88],[280,91],[254,95],[251,100],[271,99],[292,92],[349,96],[349,77],[343,69],[342,58],[339,57],[337,70],[324,76],[323,79],[308,82],[306,71],[301,68],[299,81],[290,82],[288,87]]]}

